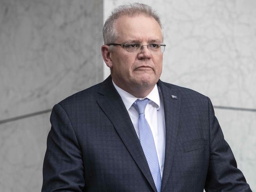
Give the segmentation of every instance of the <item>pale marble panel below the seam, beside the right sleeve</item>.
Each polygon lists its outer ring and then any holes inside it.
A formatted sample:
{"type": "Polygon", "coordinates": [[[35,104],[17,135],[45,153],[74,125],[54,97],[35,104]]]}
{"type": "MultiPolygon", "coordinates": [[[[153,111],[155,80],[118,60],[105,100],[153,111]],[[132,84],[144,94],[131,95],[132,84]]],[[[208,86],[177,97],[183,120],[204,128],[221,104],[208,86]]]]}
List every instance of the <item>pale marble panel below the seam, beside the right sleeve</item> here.
{"type": "Polygon", "coordinates": [[[245,175],[252,191],[256,191],[256,113],[215,109],[215,116],[234,153],[237,167],[245,175]]]}

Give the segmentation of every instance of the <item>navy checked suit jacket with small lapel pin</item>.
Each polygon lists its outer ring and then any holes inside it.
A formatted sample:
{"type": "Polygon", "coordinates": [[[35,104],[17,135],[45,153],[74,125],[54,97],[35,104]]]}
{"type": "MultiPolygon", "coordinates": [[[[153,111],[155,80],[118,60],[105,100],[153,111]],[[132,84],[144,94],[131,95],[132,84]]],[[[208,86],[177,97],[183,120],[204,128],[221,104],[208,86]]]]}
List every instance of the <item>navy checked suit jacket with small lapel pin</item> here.
{"type": "MultiPolygon", "coordinates": [[[[210,99],[160,80],[158,86],[166,132],[161,192],[251,192],[210,99]]],[[[56,104],[50,121],[43,192],[156,192],[111,77],[56,104]]]]}

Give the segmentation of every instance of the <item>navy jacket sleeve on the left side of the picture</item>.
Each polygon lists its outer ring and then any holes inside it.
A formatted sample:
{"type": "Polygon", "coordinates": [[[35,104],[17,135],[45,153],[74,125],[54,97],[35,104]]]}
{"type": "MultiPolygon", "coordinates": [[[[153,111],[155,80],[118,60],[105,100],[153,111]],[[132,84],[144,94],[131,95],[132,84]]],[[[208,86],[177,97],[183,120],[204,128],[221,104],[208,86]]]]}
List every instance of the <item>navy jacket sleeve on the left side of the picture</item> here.
{"type": "Polygon", "coordinates": [[[81,192],[84,187],[82,152],[69,117],[60,104],[52,109],[50,122],[42,192],[81,192]]]}

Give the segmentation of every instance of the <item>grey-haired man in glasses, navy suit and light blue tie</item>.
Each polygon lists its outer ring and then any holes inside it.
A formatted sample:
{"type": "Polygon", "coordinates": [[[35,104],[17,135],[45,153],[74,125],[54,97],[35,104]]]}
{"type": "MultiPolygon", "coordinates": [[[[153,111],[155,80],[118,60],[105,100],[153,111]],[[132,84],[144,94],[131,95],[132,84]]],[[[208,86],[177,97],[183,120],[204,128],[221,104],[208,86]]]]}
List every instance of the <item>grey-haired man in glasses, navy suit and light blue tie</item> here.
{"type": "Polygon", "coordinates": [[[159,80],[151,7],[118,7],[103,37],[111,76],[54,106],[42,191],[250,192],[210,99],[159,80]]]}

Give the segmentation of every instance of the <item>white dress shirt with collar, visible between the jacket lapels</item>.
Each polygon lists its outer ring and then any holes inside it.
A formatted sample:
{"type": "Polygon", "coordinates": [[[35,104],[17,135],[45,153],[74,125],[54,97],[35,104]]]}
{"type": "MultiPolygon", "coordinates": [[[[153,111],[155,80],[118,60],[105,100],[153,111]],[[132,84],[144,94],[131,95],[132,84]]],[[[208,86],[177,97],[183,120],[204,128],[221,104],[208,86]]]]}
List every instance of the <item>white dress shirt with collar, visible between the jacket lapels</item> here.
{"type": "MultiPolygon", "coordinates": [[[[132,104],[137,99],[141,100],[144,98],[137,98],[132,94],[126,92],[125,90],[121,89],[114,83],[113,79],[112,82],[115,89],[121,96],[122,101],[124,102],[126,110],[130,115],[132,124],[134,125],[134,129],[139,138],[139,113],[132,104]]],[[[157,85],[155,85],[154,89],[145,98],[150,99],[145,109],[145,118],[147,119],[147,122],[151,128],[154,137],[156,152],[158,154],[158,162],[160,166],[161,177],[163,177],[163,164],[165,159],[165,115],[163,110],[163,98],[161,90],[158,90],[157,85]]]]}

